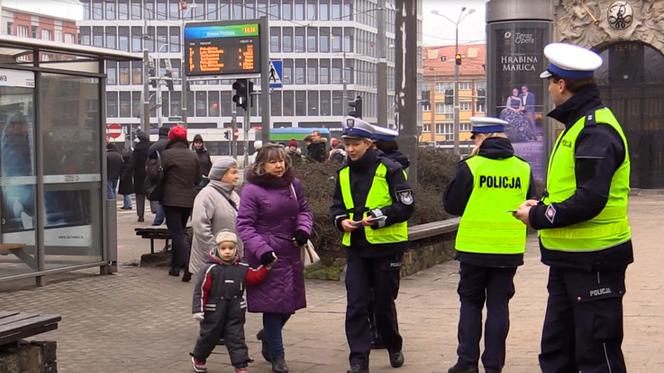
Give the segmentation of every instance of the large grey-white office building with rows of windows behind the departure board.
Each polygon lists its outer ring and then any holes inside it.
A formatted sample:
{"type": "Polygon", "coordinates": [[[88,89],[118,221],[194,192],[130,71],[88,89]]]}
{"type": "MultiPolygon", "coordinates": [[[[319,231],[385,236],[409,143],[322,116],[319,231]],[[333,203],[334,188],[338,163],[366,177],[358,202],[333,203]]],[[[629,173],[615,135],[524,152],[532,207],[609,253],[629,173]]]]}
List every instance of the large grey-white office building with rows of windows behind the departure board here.
{"type": "MultiPolygon", "coordinates": [[[[340,129],[348,101],[363,98],[364,117],[377,117],[378,10],[385,2],[388,100],[394,96],[394,0],[80,0],[83,20],[78,23],[84,45],[139,53],[145,47],[159,61],[159,74],[172,68],[174,87],[162,86],[161,109],[154,107],[151,90],[150,122],[169,123],[183,115],[192,133],[224,142],[233,118],[232,81],[191,81],[182,93],[182,29],[185,22],[256,19],[267,16],[270,58],[283,63],[282,89],[271,92],[272,127],[340,129]],[[345,97],[344,97],[345,95],[345,97]],[[183,98],[186,96],[186,98],[183,98]],[[185,105],[182,100],[185,99],[185,105]],[[161,119],[159,119],[161,117],[161,119]],[[169,121],[169,118],[173,119],[169,121]]],[[[108,63],[106,67],[108,123],[138,128],[142,112],[142,62],[108,63]]],[[[258,82],[255,86],[260,86],[258,82]]],[[[251,127],[260,126],[264,110],[254,100],[251,127]]],[[[393,105],[388,105],[393,121],[393,105]]],[[[240,123],[243,110],[238,108],[240,123]]],[[[238,124],[241,126],[241,123],[238,124]]],[[[240,138],[242,131],[240,131],[240,138]]],[[[249,131],[250,139],[255,131],[249,131]]],[[[223,154],[224,149],[211,149],[223,154]]]]}

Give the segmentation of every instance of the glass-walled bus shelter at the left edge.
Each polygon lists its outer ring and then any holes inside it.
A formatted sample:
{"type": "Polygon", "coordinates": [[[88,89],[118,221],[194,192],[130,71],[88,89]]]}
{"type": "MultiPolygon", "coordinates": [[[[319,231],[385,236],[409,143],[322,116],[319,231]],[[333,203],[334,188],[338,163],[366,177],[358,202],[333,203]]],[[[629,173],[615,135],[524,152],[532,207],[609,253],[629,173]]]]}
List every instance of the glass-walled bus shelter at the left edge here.
{"type": "Polygon", "coordinates": [[[0,36],[0,288],[90,267],[110,272],[104,63],[138,59],[0,36]]]}

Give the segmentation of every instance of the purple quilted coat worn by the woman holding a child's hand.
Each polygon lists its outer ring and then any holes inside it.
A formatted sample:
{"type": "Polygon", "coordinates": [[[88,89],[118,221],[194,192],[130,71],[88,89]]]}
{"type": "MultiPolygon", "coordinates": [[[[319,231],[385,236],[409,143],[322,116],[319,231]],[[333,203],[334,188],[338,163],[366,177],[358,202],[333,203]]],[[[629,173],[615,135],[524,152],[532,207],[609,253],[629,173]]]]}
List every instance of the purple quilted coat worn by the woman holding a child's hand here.
{"type": "Polygon", "coordinates": [[[237,216],[244,259],[256,268],[266,252],[274,251],[278,258],[264,282],[247,288],[247,308],[249,312],[292,314],[306,307],[300,249],[292,237],[298,229],[311,234],[311,209],[300,181],[290,170],[281,178],[250,173],[247,180],[237,216]]]}

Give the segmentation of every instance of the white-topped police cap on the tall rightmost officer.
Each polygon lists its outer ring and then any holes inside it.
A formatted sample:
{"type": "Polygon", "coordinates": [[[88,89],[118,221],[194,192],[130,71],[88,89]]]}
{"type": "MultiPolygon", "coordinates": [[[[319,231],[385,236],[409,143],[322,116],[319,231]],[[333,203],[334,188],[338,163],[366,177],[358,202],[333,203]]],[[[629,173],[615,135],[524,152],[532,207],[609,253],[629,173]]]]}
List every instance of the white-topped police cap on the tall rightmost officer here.
{"type": "Polygon", "coordinates": [[[592,78],[593,72],[602,66],[602,57],[595,52],[572,44],[551,43],[544,47],[549,66],[540,78],[551,76],[568,79],[592,78]]]}

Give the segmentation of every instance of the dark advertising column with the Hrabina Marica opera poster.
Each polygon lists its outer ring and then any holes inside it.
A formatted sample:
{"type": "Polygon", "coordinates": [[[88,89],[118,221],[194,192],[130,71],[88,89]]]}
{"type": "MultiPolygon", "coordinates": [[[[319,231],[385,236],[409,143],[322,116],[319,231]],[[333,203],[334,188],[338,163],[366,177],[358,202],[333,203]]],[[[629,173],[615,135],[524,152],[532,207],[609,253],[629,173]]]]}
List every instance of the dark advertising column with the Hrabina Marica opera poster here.
{"type": "Polygon", "coordinates": [[[487,115],[508,122],[516,155],[530,162],[543,181],[550,136],[544,46],[551,41],[553,8],[544,0],[487,3],[487,115]]]}

